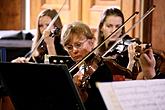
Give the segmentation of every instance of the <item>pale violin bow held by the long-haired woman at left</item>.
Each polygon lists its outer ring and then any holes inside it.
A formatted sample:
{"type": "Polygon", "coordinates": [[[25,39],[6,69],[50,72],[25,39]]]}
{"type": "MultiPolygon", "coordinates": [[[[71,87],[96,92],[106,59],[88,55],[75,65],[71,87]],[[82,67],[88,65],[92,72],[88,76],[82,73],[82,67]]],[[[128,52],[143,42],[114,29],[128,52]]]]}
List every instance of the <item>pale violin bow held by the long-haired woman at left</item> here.
{"type": "MultiPolygon", "coordinates": [[[[61,8],[59,9],[58,13],[56,14],[56,16],[52,19],[52,21],[49,23],[48,27],[45,30],[49,30],[51,28],[51,26],[54,24],[54,22],[56,22],[57,18],[59,17],[59,14],[62,10],[62,8],[64,7],[66,3],[66,0],[64,1],[64,3],[62,4],[61,8]]],[[[39,45],[41,44],[41,42],[44,39],[44,35],[41,36],[41,38],[38,40],[38,42],[36,43],[36,45],[34,46],[34,48],[32,48],[24,57],[27,58],[28,60],[31,59],[33,52],[39,47],[39,45]]]]}

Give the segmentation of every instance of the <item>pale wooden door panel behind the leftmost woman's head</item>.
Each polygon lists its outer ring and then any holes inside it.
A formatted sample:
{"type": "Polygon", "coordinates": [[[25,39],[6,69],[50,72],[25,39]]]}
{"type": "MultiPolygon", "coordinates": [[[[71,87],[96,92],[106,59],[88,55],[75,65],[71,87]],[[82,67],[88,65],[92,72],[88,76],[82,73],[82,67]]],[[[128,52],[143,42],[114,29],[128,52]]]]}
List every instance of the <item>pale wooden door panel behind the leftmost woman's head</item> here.
{"type": "MultiPolygon", "coordinates": [[[[37,14],[44,8],[54,8],[60,10],[65,0],[31,0],[31,28],[35,27],[37,14]],[[33,10],[36,10],[33,12],[33,10]]],[[[60,12],[60,18],[63,24],[72,21],[81,20],[81,0],[66,0],[64,7],[60,12]]]]}

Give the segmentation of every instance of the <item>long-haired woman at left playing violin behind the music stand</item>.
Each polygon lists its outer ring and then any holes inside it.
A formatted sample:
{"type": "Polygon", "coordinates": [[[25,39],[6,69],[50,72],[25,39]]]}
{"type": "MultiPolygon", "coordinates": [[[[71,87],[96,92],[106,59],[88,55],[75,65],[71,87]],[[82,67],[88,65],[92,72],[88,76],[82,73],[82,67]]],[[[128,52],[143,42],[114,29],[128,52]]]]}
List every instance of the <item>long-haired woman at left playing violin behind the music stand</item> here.
{"type": "Polygon", "coordinates": [[[68,55],[63,46],[60,44],[61,29],[63,27],[60,17],[57,18],[50,30],[45,30],[56,15],[57,11],[55,9],[44,9],[39,13],[36,25],[37,32],[33,38],[31,50],[36,47],[42,35],[44,35],[44,40],[41,42],[38,48],[35,49],[36,51],[34,51],[33,53],[29,53],[32,54],[30,60],[28,59],[28,57],[18,57],[11,62],[27,63],[28,61],[30,61],[43,63],[45,54],[68,55]]]}

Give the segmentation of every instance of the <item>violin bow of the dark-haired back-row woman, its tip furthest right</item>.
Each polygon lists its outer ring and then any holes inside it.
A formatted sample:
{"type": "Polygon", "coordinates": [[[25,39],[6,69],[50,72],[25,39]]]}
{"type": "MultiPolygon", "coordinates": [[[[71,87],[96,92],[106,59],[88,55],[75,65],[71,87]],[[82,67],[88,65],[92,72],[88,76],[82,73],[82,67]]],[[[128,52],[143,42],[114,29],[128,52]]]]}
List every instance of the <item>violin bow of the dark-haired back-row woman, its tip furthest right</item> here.
{"type": "Polygon", "coordinates": [[[105,57],[119,42],[122,41],[122,39],[127,35],[128,32],[130,32],[132,29],[136,27],[137,24],[139,24],[144,18],[146,18],[153,10],[155,9],[155,6],[152,6],[138,21],[135,22],[135,24],[128,29],[125,34],[123,34],[118,41],[116,41],[111,48],[109,48],[103,55],[102,57],[105,57]]]}

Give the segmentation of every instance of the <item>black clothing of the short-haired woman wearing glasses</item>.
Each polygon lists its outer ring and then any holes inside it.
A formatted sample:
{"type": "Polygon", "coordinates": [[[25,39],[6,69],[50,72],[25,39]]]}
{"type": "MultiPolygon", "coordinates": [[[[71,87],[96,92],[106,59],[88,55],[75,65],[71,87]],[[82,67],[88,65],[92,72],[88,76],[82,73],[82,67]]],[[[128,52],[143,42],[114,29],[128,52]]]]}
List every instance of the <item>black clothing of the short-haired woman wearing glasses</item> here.
{"type": "Polygon", "coordinates": [[[97,70],[91,75],[87,89],[88,98],[84,103],[86,110],[107,110],[99,89],[96,87],[96,82],[112,82],[113,77],[109,67],[102,61],[97,70]]]}

